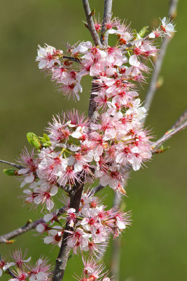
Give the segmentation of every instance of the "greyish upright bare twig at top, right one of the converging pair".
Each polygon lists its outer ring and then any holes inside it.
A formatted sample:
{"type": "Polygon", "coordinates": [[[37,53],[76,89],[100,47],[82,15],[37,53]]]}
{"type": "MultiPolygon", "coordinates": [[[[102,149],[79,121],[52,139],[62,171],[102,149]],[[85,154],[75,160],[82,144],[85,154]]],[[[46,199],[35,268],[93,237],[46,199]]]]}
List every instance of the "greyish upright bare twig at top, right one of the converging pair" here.
{"type": "Polygon", "coordinates": [[[104,0],[104,14],[102,20],[101,42],[105,46],[108,44],[109,32],[106,32],[105,23],[111,18],[112,0],[104,0]]]}

